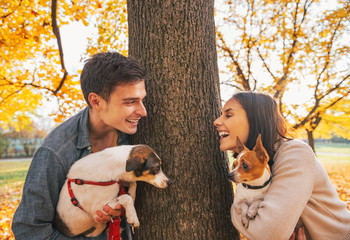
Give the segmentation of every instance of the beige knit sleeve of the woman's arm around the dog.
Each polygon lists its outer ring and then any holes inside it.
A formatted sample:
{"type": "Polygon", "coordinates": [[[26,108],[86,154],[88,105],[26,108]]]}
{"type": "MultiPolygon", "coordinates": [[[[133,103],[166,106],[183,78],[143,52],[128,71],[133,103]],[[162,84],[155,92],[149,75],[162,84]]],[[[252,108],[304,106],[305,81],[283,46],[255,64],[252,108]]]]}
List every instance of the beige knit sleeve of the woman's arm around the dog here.
{"type": "Polygon", "coordinates": [[[316,179],[315,155],[306,144],[292,140],[275,155],[272,182],[261,202],[258,215],[245,229],[233,210],[232,222],[248,239],[289,239],[307,202],[316,179]]]}

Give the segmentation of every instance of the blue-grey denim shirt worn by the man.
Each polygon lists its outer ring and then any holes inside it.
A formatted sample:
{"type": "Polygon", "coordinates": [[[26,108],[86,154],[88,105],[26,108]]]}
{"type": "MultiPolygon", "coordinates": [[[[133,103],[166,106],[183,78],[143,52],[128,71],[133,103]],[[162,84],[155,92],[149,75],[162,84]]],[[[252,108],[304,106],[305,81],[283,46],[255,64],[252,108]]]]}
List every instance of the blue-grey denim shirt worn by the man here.
{"type": "MultiPolygon", "coordinates": [[[[70,166],[91,152],[88,120],[89,110],[85,108],[55,128],[36,151],[24,183],[22,201],[13,217],[16,240],[107,239],[105,232],[95,238],[69,238],[52,225],[70,166]]],[[[128,144],[128,135],[119,132],[117,144],[128,144]]]]}

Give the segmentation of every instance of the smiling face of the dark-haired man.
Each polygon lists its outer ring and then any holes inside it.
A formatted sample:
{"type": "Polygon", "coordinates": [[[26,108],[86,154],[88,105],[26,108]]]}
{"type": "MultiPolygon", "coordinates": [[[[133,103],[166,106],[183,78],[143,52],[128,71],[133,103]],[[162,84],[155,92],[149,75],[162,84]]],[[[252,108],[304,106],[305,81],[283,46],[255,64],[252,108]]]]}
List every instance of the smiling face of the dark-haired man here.
{"type": "Polygon", "coordinates": [[[102,101],[100,117],[107,126],[134,134],[141,117],[147,115],[142,101],[146,97],[145,82],[115,87],[109,101],[102,101]]]}

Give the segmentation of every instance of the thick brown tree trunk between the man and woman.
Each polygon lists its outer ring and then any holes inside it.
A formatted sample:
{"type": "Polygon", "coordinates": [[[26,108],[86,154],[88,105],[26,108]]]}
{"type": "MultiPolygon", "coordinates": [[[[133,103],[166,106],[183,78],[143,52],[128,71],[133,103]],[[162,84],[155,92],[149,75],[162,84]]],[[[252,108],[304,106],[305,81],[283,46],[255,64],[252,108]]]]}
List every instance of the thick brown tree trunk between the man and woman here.
{"type": "Polygon", "coordinates": [[[213,122],[220,113],[213,0],[128,0],[129,54],[147,71],[148,117],[133,143],[163,159],[173,184],[138,184],[135,239],[239,239],[232,184],[213,122]]]}

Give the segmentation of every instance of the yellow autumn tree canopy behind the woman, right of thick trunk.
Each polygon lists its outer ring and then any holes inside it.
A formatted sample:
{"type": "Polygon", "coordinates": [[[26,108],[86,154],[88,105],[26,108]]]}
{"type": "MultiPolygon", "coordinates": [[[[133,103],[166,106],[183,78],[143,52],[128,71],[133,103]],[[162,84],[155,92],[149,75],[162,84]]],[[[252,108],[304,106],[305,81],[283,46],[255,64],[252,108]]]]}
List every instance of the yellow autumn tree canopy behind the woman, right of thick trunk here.
{"type": "Polygon", "coordinates": [[[230,70],[226,83],[270,93],[293,128],[306,130],[311,145],[324,114],[349,96],[350,5],[339,0],[322,10],[323,4],[239,0],[225,1],[227,12],[218,10],[225,16],[217,35],[230,70]],[[289,104],[288,96],[304,101],[289,104]]]}

